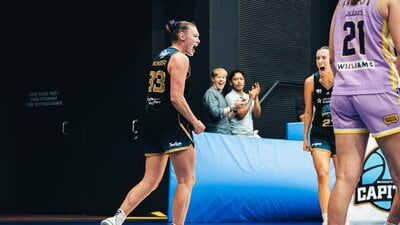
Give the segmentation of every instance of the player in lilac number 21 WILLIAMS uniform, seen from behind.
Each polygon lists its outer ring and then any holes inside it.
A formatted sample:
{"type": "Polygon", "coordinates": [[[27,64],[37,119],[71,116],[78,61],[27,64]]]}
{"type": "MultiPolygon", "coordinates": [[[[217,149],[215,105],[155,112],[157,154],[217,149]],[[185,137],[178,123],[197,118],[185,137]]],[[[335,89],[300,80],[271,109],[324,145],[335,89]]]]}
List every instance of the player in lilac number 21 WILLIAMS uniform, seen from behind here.
{"type": "MultiPolygon", "coordinates": [[[[328,224],[343,225],[360,179],[369,134],[400,190],[400,1],[339,0],[329,38],[335,88],[331,112],[338,168],[328,224]]],[[[400,194],[386,224],[400,224],[400,194]]]]}

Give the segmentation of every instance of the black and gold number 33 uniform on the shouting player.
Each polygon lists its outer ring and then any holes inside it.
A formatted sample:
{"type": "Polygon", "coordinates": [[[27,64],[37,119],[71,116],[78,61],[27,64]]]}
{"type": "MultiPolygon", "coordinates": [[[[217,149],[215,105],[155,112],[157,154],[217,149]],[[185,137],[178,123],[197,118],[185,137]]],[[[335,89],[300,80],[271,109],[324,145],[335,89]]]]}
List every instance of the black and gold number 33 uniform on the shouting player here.
{"type": "MultiPolygon", "coordinates": [[[[176,52],[178,50],[175,48],[164,49],[153,60],[151,66],[143,123],[146,156],[186,150],[193,144],[189,123],[178,113],[170,100],[168,62],[176,52]]],[[[190,73],[187,75],[186,84],[189,77],[190,73]]]]}

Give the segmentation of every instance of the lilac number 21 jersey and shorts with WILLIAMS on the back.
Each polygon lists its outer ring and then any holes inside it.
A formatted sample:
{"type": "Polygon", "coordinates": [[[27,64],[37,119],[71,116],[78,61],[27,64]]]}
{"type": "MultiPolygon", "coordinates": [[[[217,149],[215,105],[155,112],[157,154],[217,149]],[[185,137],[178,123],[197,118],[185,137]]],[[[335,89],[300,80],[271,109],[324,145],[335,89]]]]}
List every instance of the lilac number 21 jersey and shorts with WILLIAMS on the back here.
{"type": "Polygon", "coordinates": [[[377,0],[354,6],[340,0],[333,20],[335,134],[370,132],[379,138],[400,132],[396,54],[377,0]]]}

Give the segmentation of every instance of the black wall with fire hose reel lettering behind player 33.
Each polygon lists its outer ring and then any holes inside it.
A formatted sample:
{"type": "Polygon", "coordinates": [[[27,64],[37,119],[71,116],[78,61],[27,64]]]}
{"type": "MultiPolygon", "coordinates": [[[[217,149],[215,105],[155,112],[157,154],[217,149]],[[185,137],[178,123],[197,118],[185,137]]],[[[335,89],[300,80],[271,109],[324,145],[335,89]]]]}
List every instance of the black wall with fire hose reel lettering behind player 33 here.
{"type": "MultiPolygon", "coordinates": [[[[141,4],[143,14],[109,3],[7,10],[0,211],[114,213],[143,174],[132,121],[140,122],[152,57],[151,2],[141,4]]],[[[154,204],[141,207],[145,214],[154,204]]]]}

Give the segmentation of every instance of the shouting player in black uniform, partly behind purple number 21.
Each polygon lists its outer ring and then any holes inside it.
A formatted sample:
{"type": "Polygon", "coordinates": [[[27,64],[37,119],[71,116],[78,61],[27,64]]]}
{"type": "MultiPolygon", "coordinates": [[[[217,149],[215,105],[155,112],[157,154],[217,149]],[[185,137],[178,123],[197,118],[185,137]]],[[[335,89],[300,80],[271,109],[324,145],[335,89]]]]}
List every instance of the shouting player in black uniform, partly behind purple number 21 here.
{"type": "Polygon", "coordinates": [[[330,99],[333,88],[333,73],[329,64],[329,48],[321,47],[316,52],[318,71],[304,82],[304,142],[303,149],[310,151],[318,177],[318,198],[323,225],[327,224],[330,196],[330,159],[337,166],[335,135],[331,121],[330,99]],[[312,128],[310,132],[310,126],[312,128]],[[310,133],[310,141],[308,136],[310,133]],[[310,143],[311,142],[311,143],[310,143]]]}

